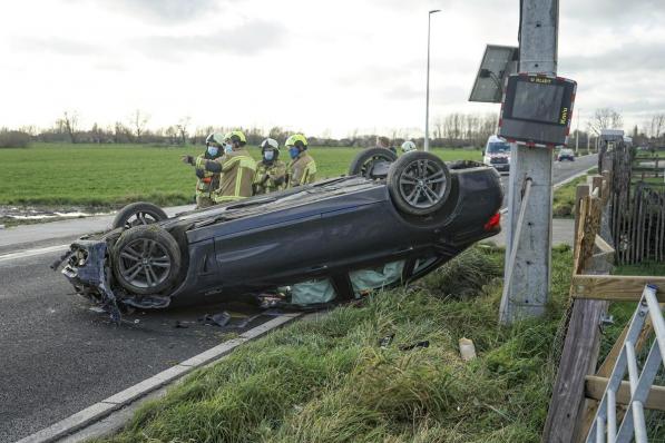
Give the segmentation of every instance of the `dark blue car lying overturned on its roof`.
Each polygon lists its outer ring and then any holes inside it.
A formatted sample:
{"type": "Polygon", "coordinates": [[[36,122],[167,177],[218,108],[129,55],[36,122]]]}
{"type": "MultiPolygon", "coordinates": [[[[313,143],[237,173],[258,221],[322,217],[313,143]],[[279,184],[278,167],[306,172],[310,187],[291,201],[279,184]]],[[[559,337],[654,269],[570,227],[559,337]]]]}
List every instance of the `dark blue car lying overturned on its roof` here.
{"type": "Polygon", "coordinates": [[[409,152],[382,179],[340,177],[172,218],[130,205],[115,229],[75,242],[62,273],[111,316],[263,294],[339,302],[412,282],[496,235],[501,200],[493,168],[409,152]]]}

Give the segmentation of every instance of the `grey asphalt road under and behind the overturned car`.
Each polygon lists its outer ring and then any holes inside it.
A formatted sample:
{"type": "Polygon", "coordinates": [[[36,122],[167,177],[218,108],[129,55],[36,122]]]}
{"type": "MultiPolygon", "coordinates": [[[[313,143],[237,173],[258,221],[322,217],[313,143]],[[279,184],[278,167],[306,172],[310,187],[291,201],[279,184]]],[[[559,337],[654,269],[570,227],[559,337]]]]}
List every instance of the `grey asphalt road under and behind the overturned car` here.
{"type": "MultiPolygon", "coordinates": [[[[556,163],[555,183],[595,163],[595,156],[556,163]]],[[[505,185],[507,180],[501,178],[505,185]]],[[[115,326],[49,269],[60,250],[2,258],[66,244],[105,229],[109,220],[92,217],[0,230],[0,442],[37,432],[219,344],[224,333],[198,322],[204,314],[253,312],[237,305],[137,312],[115,326]],[[175,327],[177,321],[188,327],[175,327]]]]}

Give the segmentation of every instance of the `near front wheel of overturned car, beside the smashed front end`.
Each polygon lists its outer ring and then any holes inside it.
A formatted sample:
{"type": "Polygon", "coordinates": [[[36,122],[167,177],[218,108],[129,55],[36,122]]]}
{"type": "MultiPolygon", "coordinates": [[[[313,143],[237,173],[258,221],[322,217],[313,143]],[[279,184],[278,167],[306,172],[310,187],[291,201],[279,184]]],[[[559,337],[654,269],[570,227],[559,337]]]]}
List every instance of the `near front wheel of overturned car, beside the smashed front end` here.
{"type": "Polygon", "coordinates": [[[159,226],[134,226],[123,233],[113,249],[114,274],[134,294],[169,289],[180,272],[180,249],[159,226]]]}

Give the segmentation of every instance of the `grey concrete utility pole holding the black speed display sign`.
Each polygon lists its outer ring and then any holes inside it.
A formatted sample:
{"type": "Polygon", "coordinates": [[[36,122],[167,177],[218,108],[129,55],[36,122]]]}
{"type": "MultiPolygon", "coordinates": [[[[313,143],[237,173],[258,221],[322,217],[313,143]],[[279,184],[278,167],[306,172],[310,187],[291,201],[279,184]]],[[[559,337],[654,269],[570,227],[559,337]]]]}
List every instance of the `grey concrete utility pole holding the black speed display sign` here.
{"type": "MultiPolygon", "coordinates": [[[[558,0],[521,1],[519,72],[557,72],[558,0]]],[[[512,144],[501,323],[539,316],[549,298],[552,151],[512,144]],[[518,227],[522,199],[527,205],[518,227]],[[519,238],[517,238],[519,236],[519,238]],[[512,246],[515,262],[510,265],[512,246]]]]}

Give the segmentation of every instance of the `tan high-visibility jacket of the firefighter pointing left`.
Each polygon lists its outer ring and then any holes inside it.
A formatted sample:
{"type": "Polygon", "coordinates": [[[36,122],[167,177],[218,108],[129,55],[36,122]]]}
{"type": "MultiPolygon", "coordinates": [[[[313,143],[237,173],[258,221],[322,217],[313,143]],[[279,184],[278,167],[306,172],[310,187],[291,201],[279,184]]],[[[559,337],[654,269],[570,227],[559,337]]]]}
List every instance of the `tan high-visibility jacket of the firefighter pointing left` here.
{"type": "Polygon", "coordinates": [[[219,187],[213,193],[215,203],[239,200],[252,196],[256,161],[245,149],[234,150],[215,160],[196,160],[197,168],[221,173],[219,187]]]}

